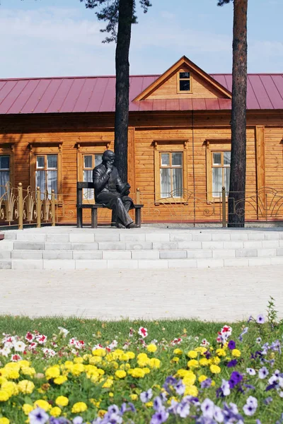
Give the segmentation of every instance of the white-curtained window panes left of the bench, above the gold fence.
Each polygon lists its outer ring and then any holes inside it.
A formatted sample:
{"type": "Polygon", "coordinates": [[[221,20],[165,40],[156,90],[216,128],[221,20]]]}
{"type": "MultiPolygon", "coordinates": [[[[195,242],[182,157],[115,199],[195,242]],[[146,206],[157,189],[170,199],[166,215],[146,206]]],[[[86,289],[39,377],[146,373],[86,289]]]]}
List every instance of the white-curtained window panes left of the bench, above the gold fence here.
{"type": "Polygon", "coordinates": [[[35,187],[40,187],[41,199],[44,192],[58,193],[58,157],[57,155],[36,155],[35,187]]]}

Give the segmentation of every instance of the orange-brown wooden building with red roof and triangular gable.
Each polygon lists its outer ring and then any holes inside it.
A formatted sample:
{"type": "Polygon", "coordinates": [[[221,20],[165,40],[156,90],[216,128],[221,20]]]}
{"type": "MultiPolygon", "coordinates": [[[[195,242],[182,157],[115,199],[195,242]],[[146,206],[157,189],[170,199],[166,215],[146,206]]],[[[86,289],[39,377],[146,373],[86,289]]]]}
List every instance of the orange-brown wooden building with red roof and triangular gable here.
{"type": "MultiPolygon", "coordinates": [[[[146,222],[216,222],[229,188],[231,75],[182,57],[130,77],[129,183],[146,222]]],[[[0,80],[0,185],[57,194],[76,220],[76,182],[114,146],[115,77],[0,80]]],[[[248,75],[246,218],[283,218],[283,74],[248,75]]],[[[1,193],[4,187],[1,187],[1,193]]],[[[93,192],[84,193],[92,202],[93,192]]],[[[110,219],[99,211],[100,222],[110,219]]]]}

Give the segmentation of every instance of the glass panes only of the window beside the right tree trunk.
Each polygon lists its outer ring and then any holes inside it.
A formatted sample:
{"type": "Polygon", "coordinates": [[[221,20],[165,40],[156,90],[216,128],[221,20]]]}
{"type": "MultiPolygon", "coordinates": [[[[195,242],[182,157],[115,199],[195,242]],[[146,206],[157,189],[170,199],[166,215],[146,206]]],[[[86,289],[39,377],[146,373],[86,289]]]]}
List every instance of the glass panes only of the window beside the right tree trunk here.
{"type": "Polygon", "coordinates": [[[231,152],[212,152],[212,196],[219,197],[222,187],[226,193],[230,185],[231,152]]]}

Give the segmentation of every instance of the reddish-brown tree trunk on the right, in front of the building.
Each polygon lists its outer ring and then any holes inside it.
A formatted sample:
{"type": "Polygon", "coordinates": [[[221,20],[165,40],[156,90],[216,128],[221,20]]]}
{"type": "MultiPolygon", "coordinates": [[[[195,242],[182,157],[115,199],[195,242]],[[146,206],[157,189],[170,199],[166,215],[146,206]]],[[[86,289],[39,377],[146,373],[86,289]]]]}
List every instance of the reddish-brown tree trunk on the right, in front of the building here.
{"type": "Polygon", "coordinates": [[[229,227],[245,226],[248,0],[234,0],[229,227]]]}

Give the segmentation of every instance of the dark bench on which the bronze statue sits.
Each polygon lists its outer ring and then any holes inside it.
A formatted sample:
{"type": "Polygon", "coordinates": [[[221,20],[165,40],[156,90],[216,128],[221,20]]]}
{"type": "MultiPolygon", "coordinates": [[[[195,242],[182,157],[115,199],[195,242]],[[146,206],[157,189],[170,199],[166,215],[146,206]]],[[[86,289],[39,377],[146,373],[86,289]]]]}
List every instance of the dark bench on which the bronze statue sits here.
{"type": "MultiPolygon", "coordinates": [[[[83,209],[91,209],[91,228],[98,228],[98,209],[105,208],[103,204],[83,204],[83,189],[94,189],[92,182],[76,183],[76,227],[83,228],[83,209]]],[[[141,208],[144,205],[134,205],[135,223],[141,226],[141,208]]]]}

